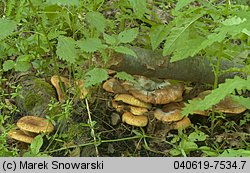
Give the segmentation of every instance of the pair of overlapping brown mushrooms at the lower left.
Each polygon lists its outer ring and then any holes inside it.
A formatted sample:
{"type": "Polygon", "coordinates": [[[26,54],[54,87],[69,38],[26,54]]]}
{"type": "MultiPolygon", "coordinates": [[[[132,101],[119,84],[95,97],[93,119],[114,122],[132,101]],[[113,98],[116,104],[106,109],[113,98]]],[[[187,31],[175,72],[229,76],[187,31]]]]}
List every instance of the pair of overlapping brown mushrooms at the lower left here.
{"type": "Polygon", "coordinates": [[[17,121],[19,129],[12,129],[8,136],[17,141],[30,144],[33,139],[41,133],[53,132],[54,126],[47,119],[37,116],[24,116],[17,121]]]}

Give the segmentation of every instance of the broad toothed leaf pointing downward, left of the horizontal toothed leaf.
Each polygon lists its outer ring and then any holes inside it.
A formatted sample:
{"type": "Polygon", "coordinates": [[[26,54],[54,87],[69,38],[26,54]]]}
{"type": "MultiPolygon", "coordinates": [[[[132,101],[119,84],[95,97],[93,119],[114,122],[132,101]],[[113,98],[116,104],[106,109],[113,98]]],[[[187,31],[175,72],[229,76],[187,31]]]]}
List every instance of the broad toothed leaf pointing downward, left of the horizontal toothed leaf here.
{"type": "Polygon", "coordinates": [[[59,36],[56,54],[62,60],[75,63],[78,58],[75,48],[75,40],[71,37],[59,36]]]}

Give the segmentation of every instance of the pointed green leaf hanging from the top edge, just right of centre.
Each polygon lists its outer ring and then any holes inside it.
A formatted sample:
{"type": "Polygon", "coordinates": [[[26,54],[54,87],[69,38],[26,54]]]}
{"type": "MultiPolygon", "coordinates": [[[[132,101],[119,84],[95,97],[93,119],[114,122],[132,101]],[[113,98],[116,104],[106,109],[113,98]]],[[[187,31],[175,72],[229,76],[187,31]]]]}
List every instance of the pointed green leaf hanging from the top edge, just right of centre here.
{"type": "Polygon", "coordinates": [[[130,5],[133,7],[135,15],[141,19],[147,12],[147,1],[146,0],[129,0],[130,5]]]}

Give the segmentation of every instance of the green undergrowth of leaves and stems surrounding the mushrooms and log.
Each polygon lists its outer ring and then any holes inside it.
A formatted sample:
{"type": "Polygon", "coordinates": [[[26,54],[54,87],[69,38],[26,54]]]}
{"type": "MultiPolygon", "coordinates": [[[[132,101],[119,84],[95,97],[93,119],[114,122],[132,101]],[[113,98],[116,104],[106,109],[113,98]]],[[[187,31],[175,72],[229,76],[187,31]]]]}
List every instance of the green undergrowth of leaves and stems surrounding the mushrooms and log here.
{"type": "MultiPolygon", "coordinates": [[[[0,156],[250,156],[247,0],[3,0],[0,16],[0,156]],[[109,96],[98,86],[109,78],[114,52],[137,56],[131,46],[162,50],[171,62],[209,59],[213,91],[204,100],[188,101],[183,115],[192,118],[194,111],[207,110],[228,95],[248,110],[239,118],[212,112],[206,123],[197,122],[164,139],[143,128],[110,125],[109,96]],[[242,68],[222,71],[222,59],[242,68]],[[90,94],[81,100],[72,86],[65,102],[50,100],[53,113],[45,117],[56,132],[41,134],[22,149],[7,133],[23,116],[13,103],[22,97],[22,88],[12,76],[24,72],[82,79],[90,94]],[[219,84],[219,76],[229,72],[241,75],[219,84]]],[[[116,77],[135,82],[125,72],[116,77]]]]}

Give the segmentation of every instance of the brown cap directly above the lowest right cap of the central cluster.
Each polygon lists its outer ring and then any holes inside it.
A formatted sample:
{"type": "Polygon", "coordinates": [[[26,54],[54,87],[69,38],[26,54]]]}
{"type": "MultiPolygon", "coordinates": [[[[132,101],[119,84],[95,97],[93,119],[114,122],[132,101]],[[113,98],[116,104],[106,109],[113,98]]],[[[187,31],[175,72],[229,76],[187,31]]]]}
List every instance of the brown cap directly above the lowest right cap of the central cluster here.
{"type": "Polygon", "coordinates": [[[183,104],[181,103],[169,103],[164,105],[162,109],[156,109],[154,111],[154,117],[163,122],[179,121],[183,118],[181,115],[182,107],[183,104]]]}

